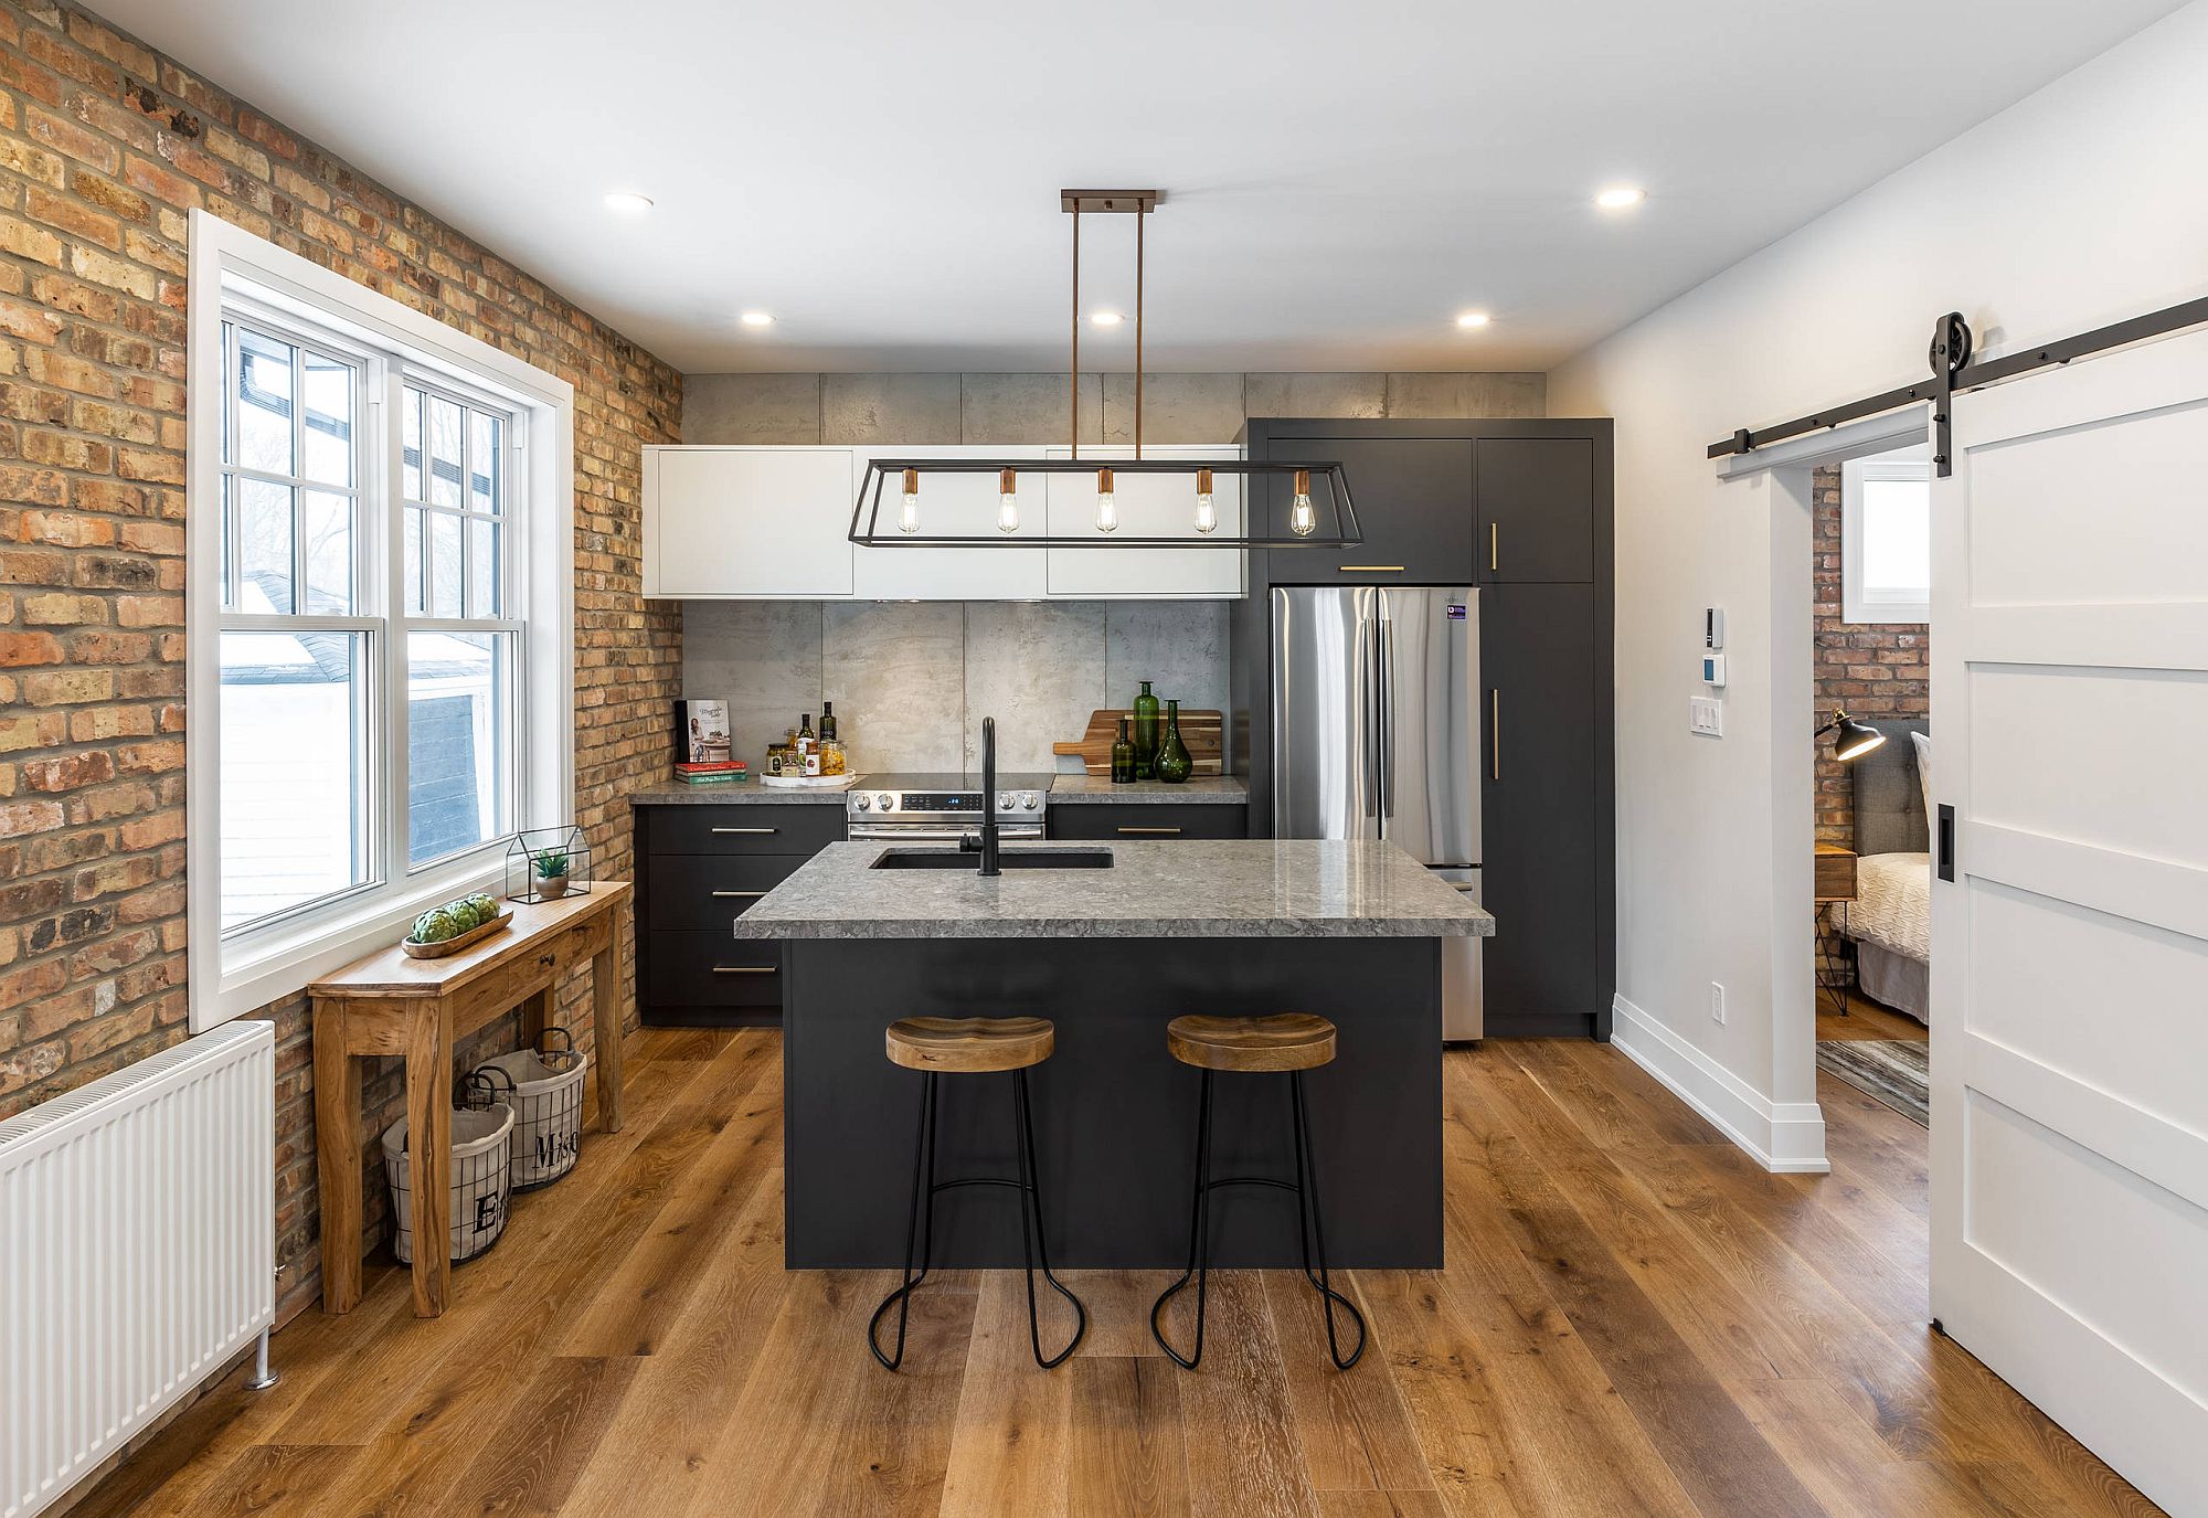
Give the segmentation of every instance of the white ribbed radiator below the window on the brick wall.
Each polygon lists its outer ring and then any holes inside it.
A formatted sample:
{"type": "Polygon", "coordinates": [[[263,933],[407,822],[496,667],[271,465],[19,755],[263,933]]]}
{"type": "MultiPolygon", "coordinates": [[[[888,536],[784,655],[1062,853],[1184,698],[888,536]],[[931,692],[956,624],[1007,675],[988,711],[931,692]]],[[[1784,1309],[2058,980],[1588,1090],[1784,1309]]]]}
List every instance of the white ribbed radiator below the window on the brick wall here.
{"type": "Polygon", "coordinates": [[[0,1123],[0,1518],[276,1317],[276,1030],[234,1022],[0,1123]]]}

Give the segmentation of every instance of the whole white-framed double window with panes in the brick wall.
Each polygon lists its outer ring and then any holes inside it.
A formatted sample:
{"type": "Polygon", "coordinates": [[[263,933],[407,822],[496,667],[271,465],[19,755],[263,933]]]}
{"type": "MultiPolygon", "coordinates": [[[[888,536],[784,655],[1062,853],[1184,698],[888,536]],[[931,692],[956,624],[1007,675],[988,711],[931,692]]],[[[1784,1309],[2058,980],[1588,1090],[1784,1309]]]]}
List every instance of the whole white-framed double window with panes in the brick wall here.
{"type": "Polygon", "coordinates": [[[422,313],[210,216],[192,232],[205,1028],[495,887],[519,827],[572,816],[574,413],[422,313]]]}

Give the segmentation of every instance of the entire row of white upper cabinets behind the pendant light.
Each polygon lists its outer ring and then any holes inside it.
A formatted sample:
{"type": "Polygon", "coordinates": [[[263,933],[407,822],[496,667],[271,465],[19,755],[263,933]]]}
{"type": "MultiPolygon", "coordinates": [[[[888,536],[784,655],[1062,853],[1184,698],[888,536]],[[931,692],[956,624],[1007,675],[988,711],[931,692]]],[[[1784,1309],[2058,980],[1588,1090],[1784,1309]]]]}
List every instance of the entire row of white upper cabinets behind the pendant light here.
{"type": "MultiPolygon", "coordinates": [[[[1150,459],[1236,459],[1214,448],[1146,448],[1150,459]]],[[[645,448],[645,596],[680,600],[1234,600],[1241,549],[1000,547],[996,470],[921,474],[921,532],[989,538],[989,547],[857,547],[852,507],[872,459],[1064,459],[1066,450],[978,446],[645,448]]],[[[1108,463],[1130,448],[1082,450],[1108,463]]],[[[1192,474],[1119,474],[1119,538],[1195,538],[1192,474]]],[[[1243,477],[1217,474],[1219,532],[1243,530],[1243,477]]],[[[903,481],[881,492],[883,532],[896,532],[903,481]]],[[[1020,525],[1095,536],[1095,474],[1022,470],[1020,525]]],[[[872,503],[872,496],[868,499],[872,503]]]]}

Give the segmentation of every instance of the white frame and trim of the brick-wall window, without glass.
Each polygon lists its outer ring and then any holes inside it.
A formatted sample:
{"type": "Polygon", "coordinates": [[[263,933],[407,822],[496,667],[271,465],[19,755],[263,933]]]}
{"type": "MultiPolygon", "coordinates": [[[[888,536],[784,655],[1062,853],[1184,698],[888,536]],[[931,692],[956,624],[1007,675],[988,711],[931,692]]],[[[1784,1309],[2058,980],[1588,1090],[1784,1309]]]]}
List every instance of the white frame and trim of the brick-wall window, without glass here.
{"type": "MultiPolygon", "coordinates": [[[[411,377],[431,388],[473,395],[510,417],[503,443],[510,461],[508,554],[499,627],[517,631],[512,682],[519,766],[512,777],[512,825],[545,827],[574,816],[574,386],[488,342],[322,269],[298,254],[208,212],[190,216],[190,307],[185,384],[185,863],[190,872],[190,1028],[201,1033],[287,997],[318,975],[391,944],[424,909],[475,889],[503,885],[506,836],[408,869],[404,763],[406,631],[448,622],[406,616],[384,605],[378,587],[397,585],[402,549],[400,386],[411,377]],[[371,353],[367,408],[358,417],[375,450],[360,499],[382,505],[355,523],[355,587],[362,618],[382,622],[380,660],[369,671],[382,735],[371,757],[373,827],[386,854],[384,876],[311,907],[278,913],[247,931],[223,936],[221,920],[221,631],[219,565],[223,556],[223,320],[263,316],[349,357],[371,353]],[[395,362],[393,362],[395,360],[395,362]],[[519,446],[517,446],[519,443],[519,446]],[[386,510],[382,538],[375,510],[386,510]],[[380,580],[371,582],[371,576],[380,580]],[[373,591],[373,594],[371,594],[373,591]],[[395,852],[393,852],[395,847],[395,852]]],[[[426,441],[426,439],[424,439],[426,441]]],[[[426,461],[424,461],[426,463],[426,461]]],[[[307,618],[285,618],[302,622],[307,618]]],[[[468,620],[464,631],[484,631],[468,620]]]]}

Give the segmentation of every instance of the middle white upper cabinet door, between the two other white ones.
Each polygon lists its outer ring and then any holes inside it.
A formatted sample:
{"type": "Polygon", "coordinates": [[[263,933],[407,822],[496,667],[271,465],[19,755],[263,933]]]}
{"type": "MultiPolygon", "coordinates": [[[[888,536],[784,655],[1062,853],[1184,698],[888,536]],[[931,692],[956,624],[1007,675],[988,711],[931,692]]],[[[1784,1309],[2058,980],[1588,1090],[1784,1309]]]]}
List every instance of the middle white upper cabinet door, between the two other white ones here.
{"type": "MultiPolygon", "coordinates": [[[[1000,459],[1002,448],[861,448],[857,479],[874,459],[1000,459]]],[[[1000,532],[1002,481],[996,470],[976,474],[921,474],[921,532],[958,532],[987,538],[1040,538],[1044,521],[1042,474],[1020,474],[1013,485],[1020,530],[1000,532]]],[[[903,481],[881,488],[881,532],[896,532],[903,481]]],[[[872,492],[868,492],[872,505],[872,492]]],[[[1040,547],[861,547],[859,600],[1042,600],[1049,596],[1040,547]]]]}

